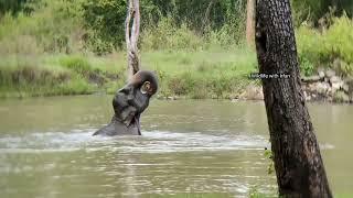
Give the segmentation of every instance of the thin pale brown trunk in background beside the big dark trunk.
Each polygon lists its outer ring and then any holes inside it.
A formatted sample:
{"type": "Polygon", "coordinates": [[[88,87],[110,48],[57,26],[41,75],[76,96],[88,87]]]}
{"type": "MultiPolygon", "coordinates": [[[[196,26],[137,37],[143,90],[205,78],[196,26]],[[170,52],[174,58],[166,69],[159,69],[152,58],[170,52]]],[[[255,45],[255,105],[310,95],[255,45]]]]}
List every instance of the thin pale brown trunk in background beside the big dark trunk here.
{"type": "Polygon", "coordinates": [[[254,31],[255,31],[255,25],[254,25],[254,0],[247,0],[247,6],[246,6],[246,42],[248,46],[254,45],[254,31]]]}

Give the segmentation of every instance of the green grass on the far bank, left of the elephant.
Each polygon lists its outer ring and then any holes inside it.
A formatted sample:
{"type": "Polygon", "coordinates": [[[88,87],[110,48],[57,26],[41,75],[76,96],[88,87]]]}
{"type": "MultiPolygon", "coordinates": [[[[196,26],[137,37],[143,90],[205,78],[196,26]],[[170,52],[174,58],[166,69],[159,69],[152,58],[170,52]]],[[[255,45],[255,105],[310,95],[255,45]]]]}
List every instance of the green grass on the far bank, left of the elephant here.
{"type": "Polygon", "coordinates": [[[0,98],[87,95],[107,90],[110,81],[124,84],[122,75],[113,68],[98,69],[93,63],[85,57],[64,55],[1,57],[0,98]]]}

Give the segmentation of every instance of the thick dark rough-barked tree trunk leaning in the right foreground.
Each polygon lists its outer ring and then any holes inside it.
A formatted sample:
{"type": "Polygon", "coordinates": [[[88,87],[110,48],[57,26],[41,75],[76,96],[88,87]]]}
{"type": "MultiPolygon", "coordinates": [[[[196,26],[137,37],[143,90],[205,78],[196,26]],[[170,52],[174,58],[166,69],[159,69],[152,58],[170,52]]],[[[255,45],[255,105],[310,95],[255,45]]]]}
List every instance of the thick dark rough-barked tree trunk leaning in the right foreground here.
{"type": "Polygon", "coordinates": [[[256,1],[256,50],[279,195],[332,197],[300,86],[290,0],[256,1]],[[277,74],[270,76],[271,74],[277,74]]]}

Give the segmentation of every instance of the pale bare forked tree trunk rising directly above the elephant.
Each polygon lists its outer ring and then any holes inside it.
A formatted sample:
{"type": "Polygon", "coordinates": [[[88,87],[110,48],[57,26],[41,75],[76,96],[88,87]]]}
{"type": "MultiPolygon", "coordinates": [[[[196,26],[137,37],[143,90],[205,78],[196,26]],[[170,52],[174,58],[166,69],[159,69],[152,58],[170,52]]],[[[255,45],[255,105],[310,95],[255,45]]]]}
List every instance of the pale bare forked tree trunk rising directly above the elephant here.
{"type": "Polygon", "coordinates": [[[128,80],[140,69],[138,55],[138,40],[140,35],[140,3],[139,0],[129,0],[129,8],[125,21],[125,40],[128,52],[128,80]],[[130,31],[131,18],[133,19],[130,31]]]}

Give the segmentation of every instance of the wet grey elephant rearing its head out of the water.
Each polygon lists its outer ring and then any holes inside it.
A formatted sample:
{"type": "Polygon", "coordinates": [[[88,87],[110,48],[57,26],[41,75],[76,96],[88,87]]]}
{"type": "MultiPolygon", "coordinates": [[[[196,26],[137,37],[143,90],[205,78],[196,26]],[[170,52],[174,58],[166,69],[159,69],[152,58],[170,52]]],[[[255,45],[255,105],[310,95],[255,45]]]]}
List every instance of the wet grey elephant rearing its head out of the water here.
{"type": "Polygon", "coordinates": [[[93,135],[141,135],[140,114],[149,106],[150,98],[157,92],[158,80],[154,73],[139,70],[113,99],[115,114],[109,124],[93,135]]]}

